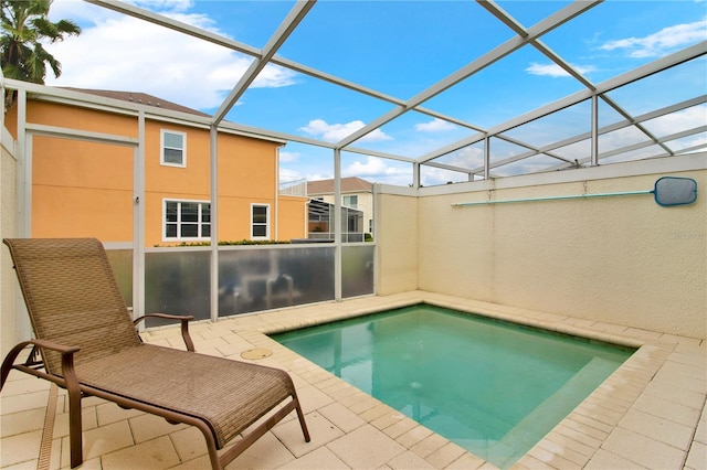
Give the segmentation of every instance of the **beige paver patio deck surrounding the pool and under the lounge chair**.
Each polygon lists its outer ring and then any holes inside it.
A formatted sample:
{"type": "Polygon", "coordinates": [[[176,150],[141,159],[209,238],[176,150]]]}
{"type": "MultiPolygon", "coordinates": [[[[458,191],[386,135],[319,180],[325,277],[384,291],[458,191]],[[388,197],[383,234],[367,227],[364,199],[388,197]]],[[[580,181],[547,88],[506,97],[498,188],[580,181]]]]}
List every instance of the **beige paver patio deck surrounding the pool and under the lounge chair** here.
{"type": "MultiPolygon", "coordinates": [[[[229,469],[492,469],[401,413],[286,350],[265,333],[428,301],[458,310],[640,346],[514,469],[707,469],[706,341],[413,291],[240,316],[191,325],[200,353],[255,360],[291,373],[306,414],[293,416],[229,469]]],[[[143,333],[183,349],[179,328],[143,333]]],[[[68,468],[64,392],[12,371],[0,395],[0,468],[68,468]]],[[[201,434],[97,398],[83,400],[83,469],[207,469],[201,434]]]]}

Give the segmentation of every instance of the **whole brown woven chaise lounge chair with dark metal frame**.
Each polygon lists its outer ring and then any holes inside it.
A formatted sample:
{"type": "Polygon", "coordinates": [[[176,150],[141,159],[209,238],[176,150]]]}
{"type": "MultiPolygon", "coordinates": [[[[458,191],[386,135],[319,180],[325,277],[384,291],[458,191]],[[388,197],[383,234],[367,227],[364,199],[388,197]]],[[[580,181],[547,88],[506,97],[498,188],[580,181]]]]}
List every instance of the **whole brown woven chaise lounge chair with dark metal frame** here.
{"type": "Polygon", "coordinates": [[[188,351],[143,343],[135,324],[145,317],[131,321],[97,239],[15,238],[4,243],[36,339],[21,342],[6,356],[0,389],[15,368],[67,391],[72,468],[83,462],[84,396],[198,427],[213,469],[225,467],[292,410],[309,441],[289,375],[193,352],[188,330],[193,317],[151,314],[181,320],[188,351]],[[14,364],[18,354],[30,346],[28,360],[14,364]],[[256,421],[242,439],[234,439],[256,421]],[[231,440],[235,444],[219,452],[231,440]]]}

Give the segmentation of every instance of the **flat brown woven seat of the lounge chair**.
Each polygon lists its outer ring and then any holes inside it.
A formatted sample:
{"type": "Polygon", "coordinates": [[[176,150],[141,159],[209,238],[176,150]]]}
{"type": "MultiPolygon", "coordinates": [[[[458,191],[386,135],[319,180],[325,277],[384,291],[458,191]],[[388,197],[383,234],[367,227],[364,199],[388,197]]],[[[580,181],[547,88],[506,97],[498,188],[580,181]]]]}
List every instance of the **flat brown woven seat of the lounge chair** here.
{"type": "Polygon", "coordinates": [[[284,371],[149,344],[76,373],[84,385],[208,421],[219,448],[293,393],[284,371]]]}

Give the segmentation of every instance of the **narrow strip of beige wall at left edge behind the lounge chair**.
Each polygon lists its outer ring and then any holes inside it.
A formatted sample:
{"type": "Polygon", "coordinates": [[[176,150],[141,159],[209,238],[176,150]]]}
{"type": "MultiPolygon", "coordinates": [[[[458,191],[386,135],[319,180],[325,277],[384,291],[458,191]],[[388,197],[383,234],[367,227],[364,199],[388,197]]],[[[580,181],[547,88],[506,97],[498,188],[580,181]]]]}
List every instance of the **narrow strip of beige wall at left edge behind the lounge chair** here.
{"type": "MultiPolygon", "coordinates": [[[[0,129],[3,130],[3,129],[0,129]]],[[[7,131],[0,147],[0,238],[17,236],[15,174],[12,139],[7,131]]],[[[0,353],[4,355],[17,343],[15,279],[10,253],[0,246],[0,353]]]]}

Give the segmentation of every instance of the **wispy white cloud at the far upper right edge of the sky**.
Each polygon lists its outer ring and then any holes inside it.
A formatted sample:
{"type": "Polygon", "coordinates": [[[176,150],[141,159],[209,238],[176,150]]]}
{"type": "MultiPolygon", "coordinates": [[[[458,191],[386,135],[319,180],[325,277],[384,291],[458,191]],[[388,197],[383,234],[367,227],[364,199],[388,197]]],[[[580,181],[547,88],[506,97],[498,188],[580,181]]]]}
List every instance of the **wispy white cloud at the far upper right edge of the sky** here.
{"type": "Polygon", "coordinates": [[[707,18],[693,23],[676,24],[644,38],[609,41],[600,49],[624,50],[630,57],[657,57],[707,38],[707,18]]]}

